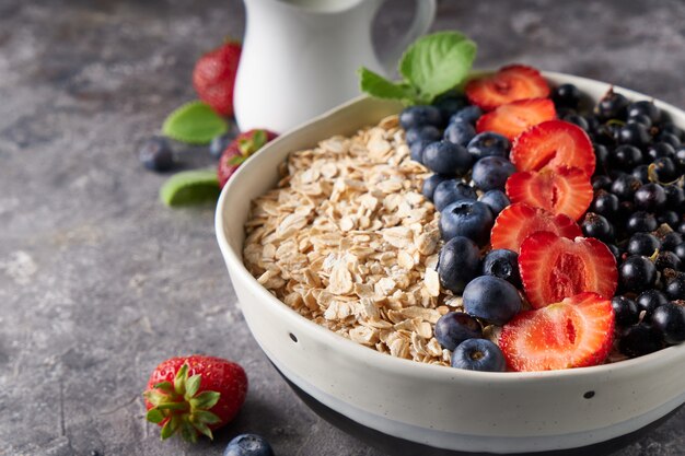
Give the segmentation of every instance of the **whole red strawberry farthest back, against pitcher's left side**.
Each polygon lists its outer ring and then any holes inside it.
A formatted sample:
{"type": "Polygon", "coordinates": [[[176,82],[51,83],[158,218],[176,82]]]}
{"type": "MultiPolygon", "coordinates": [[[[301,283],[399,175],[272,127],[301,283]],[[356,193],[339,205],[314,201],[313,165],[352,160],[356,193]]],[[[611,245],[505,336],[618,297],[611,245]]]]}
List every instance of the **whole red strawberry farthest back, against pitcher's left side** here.
{"type": "Polygon", "coordinates": [[[227,43],[200,57],[193,70],[197,95],[222,116],[233,115],[233,87],[240,57],[241,45],[227,43]]]}

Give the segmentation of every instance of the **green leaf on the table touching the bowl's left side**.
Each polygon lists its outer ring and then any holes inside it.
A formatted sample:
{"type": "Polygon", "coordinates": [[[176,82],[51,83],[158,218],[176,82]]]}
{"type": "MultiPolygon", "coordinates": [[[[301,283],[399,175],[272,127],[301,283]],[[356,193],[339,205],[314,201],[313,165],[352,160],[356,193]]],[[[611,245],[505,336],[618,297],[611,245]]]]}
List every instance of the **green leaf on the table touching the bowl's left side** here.
{"type": "MultiPolygon", "coordinates": [[[[221,189],[214,169],[184,171],[171,176],[160,188],[166,206],[178,207],[216,202],[221,189]]],[[[183,394],[184,389],[178,393],[183,394]]]]}

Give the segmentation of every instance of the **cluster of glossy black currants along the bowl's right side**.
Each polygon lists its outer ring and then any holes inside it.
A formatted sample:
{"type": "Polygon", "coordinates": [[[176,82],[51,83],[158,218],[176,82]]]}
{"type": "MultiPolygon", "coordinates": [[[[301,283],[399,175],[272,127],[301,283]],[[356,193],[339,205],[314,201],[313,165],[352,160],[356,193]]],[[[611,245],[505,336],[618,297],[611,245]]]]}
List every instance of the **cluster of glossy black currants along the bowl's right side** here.
{"type": "Polygon", "coordinates": [[[685,133],[651,101],[608,91],[592,107],[565,84],[560,118],[593,141],[594,199],[581,222],[618,265],[618,349],[634,358],[685,340],[685,133]]]}

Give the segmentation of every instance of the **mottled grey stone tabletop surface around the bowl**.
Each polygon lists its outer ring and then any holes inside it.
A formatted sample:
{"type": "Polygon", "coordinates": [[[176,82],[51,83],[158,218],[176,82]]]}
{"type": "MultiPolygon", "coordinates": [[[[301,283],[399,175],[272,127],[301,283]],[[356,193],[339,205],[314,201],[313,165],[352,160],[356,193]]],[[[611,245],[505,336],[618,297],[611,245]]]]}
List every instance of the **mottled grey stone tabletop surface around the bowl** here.
{"type": "MultiPolygon", "coordinates": [[[[411,2],[383,11],[381,50],[411,2]]],[[[434,30],[473,37],[481,67],[522,61],[685,107],[684,24],[676,0],[453,0],[434,30]]],[[[163,207],[166,176],[135,155],[194,97],[200,52],[243,27],[236,0],[0,1],[0,455],[220,455],[242,431],[280,456],[382,455],[290,391],[234,306],[212,208],[163,207]],[[161,443],[140,397],[161,360],[189,352],[251,378],[240,418],[195,447],[161,443]]],[[[681,409],[612,454],[682,456],[684,426],[681,409]]]]}

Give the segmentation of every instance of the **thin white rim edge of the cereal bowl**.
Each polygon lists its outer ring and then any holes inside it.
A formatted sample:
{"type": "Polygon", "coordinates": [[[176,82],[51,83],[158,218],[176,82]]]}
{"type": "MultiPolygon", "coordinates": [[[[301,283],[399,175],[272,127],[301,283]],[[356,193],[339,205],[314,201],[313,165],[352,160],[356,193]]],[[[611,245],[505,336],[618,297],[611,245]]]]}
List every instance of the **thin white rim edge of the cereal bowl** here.
{"type": "MultiPolygon", "coordinates": [[[[478,71],[478,73],[487,73],[488,71],[478,71]]],[[[607,90],[613,87],[615,92],[619,92],[629,98],[634,100],[651,100],[654,104],[670,114],[677,113],[677,116],[685,119],[685,110],[671,105],[669,103],[657,100],[652,96],[646,95],[640,92],[636,92],[629,89],[625,89],[618,85],[614,85],[607,82],[597,81],[590,78],[583,78],[561,72],[553,72],[553,71],[541,71],[541,73],[545,77],[545,79],[556,81],[556,83],[573,83],[573,84],[582,84],[582,85],[597,85],[606,86],[607,90]]],[[[370,98],[368,95],[360,95],[355,97],[341,105],[329,109],[328,112],[316,116],[304,124],[301,124],[283,135],[276,138],[274,141],[270,141],[266,144],[259,152],[255,153],[251,156],[236,172],[236,175],[245,174],[249,172],[251,162],[254,162],[254,157],[263,154],[268,154],[269,151],[276,148],[285,138],[290,135],[295,133],[300,129],[311,126],[317,121],[325,119],[332,114],[344,109],[352,104],[360,103],[370,98]]],[[[685,120],[684,120],[685,121],[685,120]]],[[[676,124],[678,124],[676,121],[676,124]]],[[[682,124],[682,122],[681,122],[682,124]]],[[[681,127],[685,127],[681,125],[681,127]]],[[[632,371],[636,367],[640,370],[646,369],[658,369],[659,365],[670,364],[674,360],[683,361],[685,359],[685,342],[682,342],[676,346],[672,346],[657,352],[638,356],[629,360],[618,361],[614,363],[587,366],[587,367],[572,367],[572,369],[564,369],[564,370],[554,370],[554,371],[535,371],[535,372],[478,372],[478,371],[468,371],[454,369],[443,365],[434,365],[428,363],[421,363],[414,360],[402,359],[392,356],[387,353],[381,353],[372,348],[364,347],[360,343],[357,343],[344,336],[340,336],[312,320],[300,315],[286,303],[277,299],[272,295],[266,288],[264,288],[257,279],[249,273],[247,268],[245,268],[242,260],[242,250],[235,252],[225,234],[225,224],[223,213],[227,211],[225,203],[228,200],[228,195],[231,192],[240,191],[235,187],[235,182],[237,179],[230,179],[229,183],[224,186],[221,195],[219,196],[219,200],[217,202],[217,209],[214,212],[214,230],[217,235],[217,241],[219,243],[219,247],[222,252],[224,260],[227,262],[227,267],[231,273],[232,280],[240,280],[244,285],[246,285],[252,293],[254,293],[258,299],[263,299],[271,303],[274,312],[279,315],[280,318],[286,318],[290,324],[295,327],[302,328],[302,330],[306,330],[310,332],[312,338],[318,339],[334,350],[345,350],[349,351],[351,356],[359,359],[360,361],[367,362],[370,365],[376,365],[387,371],[396,372],[400,375],[406,376],[419,376],[423,377],[427,375],[432,376],[434,379],[443,379],[450,381],[454,379],[455,376],[463,376],[465,379],[471,381],[484,381],[490,384],[499,384],[499,383],[510,383],[510,382],[547,382],[554,379],[569,379],[572,381],[574,378],[587,377],[590,375],[602,375],[602,374],[620,374],[626,371],[632,371]]],[[[254,337],[254,335],[253,335],[254,337]]],[[[268,353],[267,353],[268,355],[268,353]]]]}

